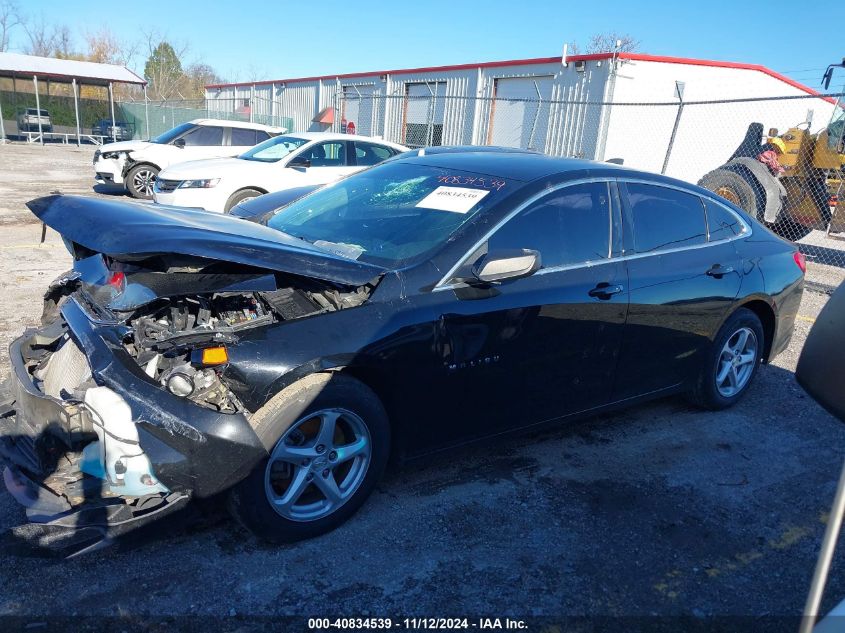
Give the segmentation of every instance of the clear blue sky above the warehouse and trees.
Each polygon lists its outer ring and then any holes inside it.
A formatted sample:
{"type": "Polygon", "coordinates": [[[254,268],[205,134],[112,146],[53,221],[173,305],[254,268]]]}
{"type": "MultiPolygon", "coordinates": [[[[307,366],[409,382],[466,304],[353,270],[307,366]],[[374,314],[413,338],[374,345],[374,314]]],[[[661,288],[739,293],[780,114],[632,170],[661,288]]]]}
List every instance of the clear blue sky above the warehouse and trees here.
{"type": "MultiPolygon", "coordinates": [[[[144,0],[128,12],[102,0],[18,4],[31,19],[67,25],[80,48],[99,25],[126,42],[155,31],[187,45],[188,63],[230,81],[552,57],[564,42],[583,49],[611,31],[639,40],[643,53],[761,64],[817,89],[824,68],[845,56],[836,26],[845,11],[822,0],[144,0]],[[154,22],[138,22],[144,16],[154,22]]],[[[10,48],[25,45],[18,28],[10,48]]],[[[142,73],[145,59],[133,70],[142,73]]]]}

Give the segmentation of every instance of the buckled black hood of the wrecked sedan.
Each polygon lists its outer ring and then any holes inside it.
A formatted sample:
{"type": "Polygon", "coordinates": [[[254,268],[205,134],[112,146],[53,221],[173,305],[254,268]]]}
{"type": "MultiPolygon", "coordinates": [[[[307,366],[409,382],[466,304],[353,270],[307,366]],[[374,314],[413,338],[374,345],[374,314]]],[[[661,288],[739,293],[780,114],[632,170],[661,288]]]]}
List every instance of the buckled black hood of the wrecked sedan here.
{"type": "Polygon", "coordinates": [[[27,206],[66,240],[117,259],[188,255],[355,286],[385,272],[219,213],[64,195],[37,198],[27,206]]]}

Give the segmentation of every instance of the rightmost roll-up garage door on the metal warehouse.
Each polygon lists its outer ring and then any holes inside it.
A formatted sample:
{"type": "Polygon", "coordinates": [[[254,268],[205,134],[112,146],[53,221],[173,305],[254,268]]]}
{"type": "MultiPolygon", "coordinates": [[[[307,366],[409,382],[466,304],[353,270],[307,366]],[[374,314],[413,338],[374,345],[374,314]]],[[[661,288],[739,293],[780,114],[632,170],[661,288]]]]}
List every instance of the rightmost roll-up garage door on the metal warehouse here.
{"type": "Polygon", "coordinates": [[[490,110],[490,145],[545,151],[552,77],[496,79],[490,110]]]}

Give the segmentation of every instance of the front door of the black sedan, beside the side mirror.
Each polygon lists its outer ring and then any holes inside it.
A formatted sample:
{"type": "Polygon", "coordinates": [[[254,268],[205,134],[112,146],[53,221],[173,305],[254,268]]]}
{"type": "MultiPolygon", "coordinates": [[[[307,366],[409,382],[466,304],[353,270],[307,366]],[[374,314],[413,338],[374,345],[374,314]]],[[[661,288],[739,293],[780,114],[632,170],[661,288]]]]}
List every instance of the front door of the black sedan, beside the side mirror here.
{"type": "Polygon", "coordinates": [[[441,317],[440,338],[455,397],[448,418],[432,420],[439,426],[432,435],[448,443],[609,400],[628,303],[611,194],[608,182],[546,194],[483,247],[537,250],[539,271],[489,293],[460,285],[445,291],[455,300],[441,317]]]}

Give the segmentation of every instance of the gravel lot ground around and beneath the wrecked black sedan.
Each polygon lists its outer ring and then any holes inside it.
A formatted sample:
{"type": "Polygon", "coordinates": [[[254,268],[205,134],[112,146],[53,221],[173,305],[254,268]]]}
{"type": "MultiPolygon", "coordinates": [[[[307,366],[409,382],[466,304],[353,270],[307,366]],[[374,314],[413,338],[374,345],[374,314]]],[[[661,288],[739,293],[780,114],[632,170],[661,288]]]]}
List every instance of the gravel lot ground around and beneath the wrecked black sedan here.
{"type": "MultiPolygon", "coordinates": [[[[21,205],[93,194],[90,154],[0,146],[0,375],[69,267],[21,205]]],[[[797,615],[845,454],[845,426],[793,375],[826,299],[805,292],[788,351],[729,411],[673,398],[430,458],[295,546],[220,519],[55,560],[16,541],[24,515],[3,492],[0,615],[797,615]]],[[[842,562],[825,609],[845,597],[842,562]]]]}

